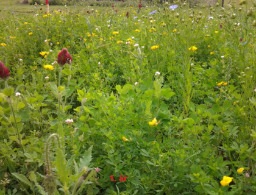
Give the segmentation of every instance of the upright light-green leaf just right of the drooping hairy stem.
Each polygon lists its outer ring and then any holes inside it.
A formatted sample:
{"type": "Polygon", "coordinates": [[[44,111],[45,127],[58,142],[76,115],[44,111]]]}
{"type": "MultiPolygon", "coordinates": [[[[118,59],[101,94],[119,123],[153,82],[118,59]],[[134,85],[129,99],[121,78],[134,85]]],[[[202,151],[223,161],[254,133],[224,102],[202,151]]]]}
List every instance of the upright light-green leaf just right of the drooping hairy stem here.
{"type": "Polygon", "coordinates": [[[57,174],[59,174],[59,180],[65,185],[68,185],[69,183],[69,171],[66,163],[65,156],[63,155],[62,151],[58,147],[56,150],[56,168],[57,168],[57,174]]]}

